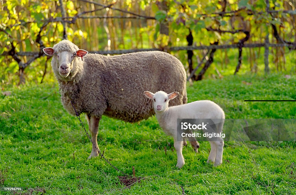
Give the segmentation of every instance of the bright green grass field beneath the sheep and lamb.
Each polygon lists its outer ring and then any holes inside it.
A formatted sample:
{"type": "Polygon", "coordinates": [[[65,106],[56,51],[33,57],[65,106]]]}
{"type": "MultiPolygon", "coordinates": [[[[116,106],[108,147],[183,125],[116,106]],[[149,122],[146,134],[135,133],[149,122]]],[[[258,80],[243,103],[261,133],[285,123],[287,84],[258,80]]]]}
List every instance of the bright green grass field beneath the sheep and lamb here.
{"type": "MultiPolygon", "coordinates": [[[[243,102],[295,100],[295,81],[278,74],[227,76],[195,82],[187,92],[189,102],[215,101],[226,118],[295,119],[295,102],[243,102]]],[[[132,175],[134,166],[143,178],[125,188],[120,172],[100,158],[87,160],[91,143],[62,108],[56,83],[7,90],[11,95],[0,95],[0,187],[22,187],[22,194],[181,194],[181,186],[186,194],[296,194],[295,142],[226,142],[219,167],[206,163],[210,144],[202,142],[198,154],[184,148],[185,165],[177,169],[173,139],[155,117],[130,124],[103,116],[100,149],[120,170],[132,175]]]]}

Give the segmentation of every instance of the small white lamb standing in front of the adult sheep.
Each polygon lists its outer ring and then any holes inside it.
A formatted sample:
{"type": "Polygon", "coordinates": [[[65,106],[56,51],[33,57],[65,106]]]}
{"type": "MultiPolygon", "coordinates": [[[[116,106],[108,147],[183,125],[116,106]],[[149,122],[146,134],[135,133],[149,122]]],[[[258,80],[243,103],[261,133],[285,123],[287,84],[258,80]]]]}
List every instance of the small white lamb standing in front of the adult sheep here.
{"type": "MultiPolygon", "coordinates": [[[[145,91],[144,95],[153,100],[153,107],[157,121],[167,135],[173,136],[174,147],[177,152],[177,165],[181,168],[185,164],[182,154],[183,141],[177,139],[177,119],[218,119],[215,120],[216,132],[221,133],[225,114],[222,108],[210,100],[200,100],[184,105],[169,107],[169,101],[178,96],[179,92],[167,94],[158,91],[155,94],[145,91]]],[[[214,166],[222,164],[224,141],[221,137],[210,140],[211,150],[207,163],[214,162],[214,166]]]]}

